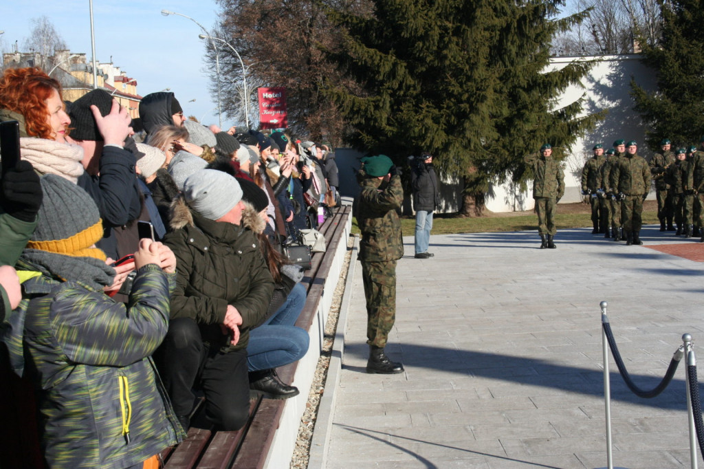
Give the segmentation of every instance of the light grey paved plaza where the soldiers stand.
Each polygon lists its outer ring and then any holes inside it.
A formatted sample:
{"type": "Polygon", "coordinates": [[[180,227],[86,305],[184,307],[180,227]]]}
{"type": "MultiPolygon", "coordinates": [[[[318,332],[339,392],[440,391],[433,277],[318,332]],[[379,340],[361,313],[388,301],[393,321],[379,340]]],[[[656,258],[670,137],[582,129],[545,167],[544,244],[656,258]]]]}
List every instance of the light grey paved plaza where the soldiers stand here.
{"type": "MultiPolygon", "coordinates": [[[[655,226],[641,235],[645,246],[625,246],[563,230],[558,249],[543,250],[536,231],[440,235],[427,260],[404,237],[386,347],[406,367],[399,375],[365,373],[354,263],[309,467],[604,467],[600,301],[641,388],[665,375],[685,332],[704,363],[704,264],[662,252],[696,259],[704,244],[655,226]]],[[[614,465],[689,467],[684,361],[655,399],[610,366],[614,465]]]]}

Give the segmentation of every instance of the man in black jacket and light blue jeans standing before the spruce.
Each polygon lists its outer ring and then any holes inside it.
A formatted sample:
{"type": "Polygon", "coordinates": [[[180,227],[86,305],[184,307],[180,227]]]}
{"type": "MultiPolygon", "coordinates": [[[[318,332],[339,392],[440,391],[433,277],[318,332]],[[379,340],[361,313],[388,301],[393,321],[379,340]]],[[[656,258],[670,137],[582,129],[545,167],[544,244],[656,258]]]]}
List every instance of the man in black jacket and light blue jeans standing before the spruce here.
{"type": "Polygon", "coordinates": [[[427,259],[430,230],[433,229],[433,211],[440,202],[438,180],[433,168],[433,156],[427,151],[420,158],[413,158],[410,183],[413,187],[413,209],[415,210],[415,258],[427,259]]]}

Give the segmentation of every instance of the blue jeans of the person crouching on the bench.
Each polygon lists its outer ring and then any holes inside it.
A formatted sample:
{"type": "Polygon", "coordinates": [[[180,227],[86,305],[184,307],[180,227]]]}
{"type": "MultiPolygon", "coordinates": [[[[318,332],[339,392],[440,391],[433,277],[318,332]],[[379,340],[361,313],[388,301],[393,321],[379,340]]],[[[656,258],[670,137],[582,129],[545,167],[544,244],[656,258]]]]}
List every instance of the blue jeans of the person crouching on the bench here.
{"type": "Polygon", "coordinates": [[[247,367],[268,370],[300,360],[308,351],[308,331],[296,327],[306,304],[306,287],[297,283],[284,304],[259,327],[249,331],[247,367]]]}

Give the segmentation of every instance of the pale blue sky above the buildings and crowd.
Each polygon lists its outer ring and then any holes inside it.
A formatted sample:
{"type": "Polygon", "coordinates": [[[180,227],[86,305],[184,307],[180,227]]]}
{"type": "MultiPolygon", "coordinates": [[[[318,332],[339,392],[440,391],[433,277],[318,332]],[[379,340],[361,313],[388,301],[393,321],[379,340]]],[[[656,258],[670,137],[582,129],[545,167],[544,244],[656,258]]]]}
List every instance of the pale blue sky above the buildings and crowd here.
{"type": "MultiPolygon", "coordinates": [[[[92,58],[89,0],[2,0],[0,49],[14,51],[32,29],[32,18],[46,15],[71,53],[92,58]],[[10,8],[8,5],[12,4],[10,8]]],[[[161,10],[187,15],[210,30],[218,18],[215,0],[93,0],[96,59],[112,61],[137,80],[142,96],[170,88],[186,115],[203,124],[217,124],[217,98],[208,92],[201,29],[182,16],[164,16],[161,10]],[[193,102],[189,102],[195,99],[193,102]]],[[[222,116],[222,127],[240,125],[222,116]]]]}

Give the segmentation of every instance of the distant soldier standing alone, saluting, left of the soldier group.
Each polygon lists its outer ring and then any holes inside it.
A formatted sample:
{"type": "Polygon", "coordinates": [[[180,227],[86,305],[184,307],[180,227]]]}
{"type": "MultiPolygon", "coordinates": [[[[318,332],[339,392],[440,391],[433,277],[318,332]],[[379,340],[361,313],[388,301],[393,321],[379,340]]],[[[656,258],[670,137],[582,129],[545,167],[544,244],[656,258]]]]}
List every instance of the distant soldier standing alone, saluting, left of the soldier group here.
{"type": "Polygon", "coordinates": [[[533,169],[533,199],[538,213],[540,249],[555,249],[555,205],[565,194],[565,174],[552,155],[551,144],[544,144],[540,147],[539,155],[531,154],[524,158],[525,163],[533,169]]]}

